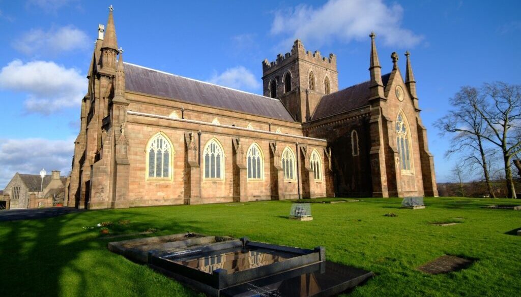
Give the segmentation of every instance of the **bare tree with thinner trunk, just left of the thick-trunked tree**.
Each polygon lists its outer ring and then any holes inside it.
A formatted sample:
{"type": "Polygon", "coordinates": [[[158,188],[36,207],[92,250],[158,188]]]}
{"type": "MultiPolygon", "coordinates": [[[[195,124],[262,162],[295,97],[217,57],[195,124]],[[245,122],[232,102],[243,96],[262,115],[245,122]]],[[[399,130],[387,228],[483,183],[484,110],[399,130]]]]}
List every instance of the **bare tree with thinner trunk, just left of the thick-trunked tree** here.
{"type": "Polygon", "coordinates": [[[462,166],[478,165],[485,177],[490,197],[495,198],[490,183],[490,164],[487,162],[488,156],[483,145],[485,139],[482,136],[487,131],[487,124],[482,115],[474,108],[475,105],[483,105],[483,102],[484,98],[479,94],[478,89],[464,86],[450,99],[453,109],[436,121],[435,125],[440,129],[441,134],[454,134],[452,145],[445,156],[450,157],[455,153],[462,154],[462,166]]]}

